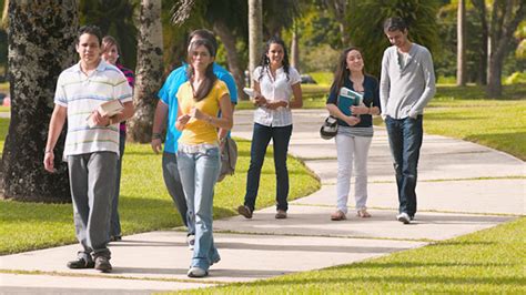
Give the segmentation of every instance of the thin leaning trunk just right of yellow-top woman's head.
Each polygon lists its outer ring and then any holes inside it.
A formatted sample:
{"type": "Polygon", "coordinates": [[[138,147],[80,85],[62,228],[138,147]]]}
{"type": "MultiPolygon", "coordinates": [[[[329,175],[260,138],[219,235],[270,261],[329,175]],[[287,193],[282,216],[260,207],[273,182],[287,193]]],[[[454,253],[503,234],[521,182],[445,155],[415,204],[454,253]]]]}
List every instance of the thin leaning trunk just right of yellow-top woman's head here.
{"type": "Polygon", "coordinates": [[[237,98],[240,100],[246,100],[247,96],[243,92],[243,88],[245,87],[244,67],[241,65],[237,50],[235,49],[235,37],[232,30],[222,21],[215,21],[214,32],[221,38],[224,49],[226,50],[226,62],[229,62],[229,70],[232,72],[235,84],[237,85],[237,98]]]}

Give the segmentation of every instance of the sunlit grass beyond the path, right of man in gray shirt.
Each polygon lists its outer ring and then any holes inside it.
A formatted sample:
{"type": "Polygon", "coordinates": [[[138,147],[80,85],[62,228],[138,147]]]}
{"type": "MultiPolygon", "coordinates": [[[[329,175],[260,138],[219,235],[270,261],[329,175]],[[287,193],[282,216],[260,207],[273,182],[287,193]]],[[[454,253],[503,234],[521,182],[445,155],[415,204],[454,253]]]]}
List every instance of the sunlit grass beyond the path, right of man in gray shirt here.
{"type": "Polygon", "coordinates": [[[424,131],[526,160],[526,84],[504,87],[504,96],[498,100],[485,99],[479,87],[438,87],[425,109],[424,131]]]}

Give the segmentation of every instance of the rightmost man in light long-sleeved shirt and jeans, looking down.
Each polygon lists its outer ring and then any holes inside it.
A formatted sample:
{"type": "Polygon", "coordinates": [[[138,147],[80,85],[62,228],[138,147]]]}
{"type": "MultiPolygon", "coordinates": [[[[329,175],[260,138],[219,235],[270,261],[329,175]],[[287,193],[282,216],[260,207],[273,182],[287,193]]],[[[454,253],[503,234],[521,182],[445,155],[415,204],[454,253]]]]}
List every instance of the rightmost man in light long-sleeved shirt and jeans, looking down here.
{"type": "Polygon", "coordinates": [[[398,215],[408,224],[416,213],[416,170],[422,146],[424,108],[435,94],[435,73],[429,51],[407,39],[401,18],[384,22],[392,47],[384,51],[380,99],[398,186],[398,215]]]}

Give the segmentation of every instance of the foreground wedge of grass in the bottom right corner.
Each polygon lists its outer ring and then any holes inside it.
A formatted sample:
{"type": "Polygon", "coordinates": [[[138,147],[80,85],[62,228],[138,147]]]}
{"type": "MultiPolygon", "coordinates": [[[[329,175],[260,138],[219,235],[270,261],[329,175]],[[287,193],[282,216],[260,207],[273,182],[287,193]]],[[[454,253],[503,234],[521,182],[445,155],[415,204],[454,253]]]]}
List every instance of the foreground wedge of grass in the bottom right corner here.
{"type": "Polygon", "coordinates": [[[381,258],[186,293],[525,294],[525,236],[522,217],[381,258]]]}

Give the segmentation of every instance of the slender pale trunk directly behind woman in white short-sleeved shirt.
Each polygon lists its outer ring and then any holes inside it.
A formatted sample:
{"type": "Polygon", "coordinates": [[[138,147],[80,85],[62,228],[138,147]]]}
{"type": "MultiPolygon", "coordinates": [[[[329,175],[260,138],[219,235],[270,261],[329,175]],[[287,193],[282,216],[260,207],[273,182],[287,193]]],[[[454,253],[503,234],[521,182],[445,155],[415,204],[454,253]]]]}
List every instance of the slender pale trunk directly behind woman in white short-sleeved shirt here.
{"type": "Polygon", "coordinates": [[[263,4],[262,0],[249,0],[249,75],[253,87],[252,74],[261,59],[263,43],[263,4]]]}

